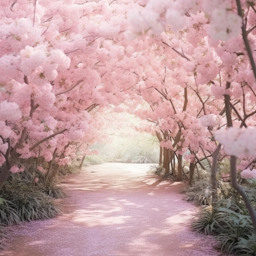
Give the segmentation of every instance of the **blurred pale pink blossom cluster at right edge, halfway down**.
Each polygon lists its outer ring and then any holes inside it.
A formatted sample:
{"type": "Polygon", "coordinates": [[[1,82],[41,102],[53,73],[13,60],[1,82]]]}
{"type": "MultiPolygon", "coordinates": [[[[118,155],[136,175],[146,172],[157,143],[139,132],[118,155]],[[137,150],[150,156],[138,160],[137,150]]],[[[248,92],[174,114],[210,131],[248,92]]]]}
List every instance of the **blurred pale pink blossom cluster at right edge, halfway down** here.
{"type": "Polygon", "coordinates": [[[256,157],[256,127],[222,128],[215,132],[214,137],[224,146],[227,155],[256,157]]]}

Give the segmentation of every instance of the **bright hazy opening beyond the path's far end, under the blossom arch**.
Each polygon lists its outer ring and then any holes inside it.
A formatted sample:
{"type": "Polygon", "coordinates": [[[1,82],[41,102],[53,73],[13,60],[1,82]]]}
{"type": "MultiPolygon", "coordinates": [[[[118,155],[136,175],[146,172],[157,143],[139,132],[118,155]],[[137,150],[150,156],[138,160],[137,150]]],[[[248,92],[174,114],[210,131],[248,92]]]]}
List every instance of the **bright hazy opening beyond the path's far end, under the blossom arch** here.
{"type": "Polygon", "coordinates": [[[148,121],[125,112],[116,113],[111,106],[104,117],[103,130],[108,137],[91,147],[92,150],[98,150],[99,154],[88,156],[85,165],[104,162],[159,162],[159,141],[152,135],[154,131],[148,121]]]}

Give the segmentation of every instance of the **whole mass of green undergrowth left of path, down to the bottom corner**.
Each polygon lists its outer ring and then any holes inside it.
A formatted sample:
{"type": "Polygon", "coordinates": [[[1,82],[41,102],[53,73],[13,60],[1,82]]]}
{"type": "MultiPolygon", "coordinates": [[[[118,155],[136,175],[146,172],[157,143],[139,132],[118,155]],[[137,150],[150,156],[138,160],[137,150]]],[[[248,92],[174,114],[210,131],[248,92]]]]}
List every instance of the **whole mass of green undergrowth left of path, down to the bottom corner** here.
{"type": "Polygon", "coordinates": [[[22,221],[43,220],[61,214],[56,198],[65,194],[60,186],[43,186],[45,175],[37,171],[36,159],[19,159],[25,167],[20,173],[9,173],[7,181],[0,190],[0,249],[4,248],[11,225],[22,221]],[[39,180],[34,184],[34,179],[39,180]]]}

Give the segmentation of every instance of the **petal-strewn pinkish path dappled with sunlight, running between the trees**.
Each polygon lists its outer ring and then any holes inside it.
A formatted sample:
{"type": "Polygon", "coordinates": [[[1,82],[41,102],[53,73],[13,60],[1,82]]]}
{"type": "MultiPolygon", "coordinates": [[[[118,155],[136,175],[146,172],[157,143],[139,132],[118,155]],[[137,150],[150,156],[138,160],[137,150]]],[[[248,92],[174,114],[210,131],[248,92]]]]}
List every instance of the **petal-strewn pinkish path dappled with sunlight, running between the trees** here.
{"type": "Polygon", "coordinates": [[[195,234],[197,208],[178,182],[157,182],[148,164],[86,167],[65,182],[64,214],[16,227],[4,256],[219,256],[195,234]],[[154,183],[155,182],[155,183],[154,183]]]}

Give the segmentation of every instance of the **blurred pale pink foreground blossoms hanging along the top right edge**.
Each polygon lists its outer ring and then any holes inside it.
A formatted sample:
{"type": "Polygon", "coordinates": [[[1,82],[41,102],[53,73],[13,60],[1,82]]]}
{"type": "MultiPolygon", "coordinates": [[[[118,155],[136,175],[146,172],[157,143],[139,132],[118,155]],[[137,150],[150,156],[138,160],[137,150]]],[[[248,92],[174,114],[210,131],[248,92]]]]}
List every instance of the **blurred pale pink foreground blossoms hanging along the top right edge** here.
{"type": "Polygon", "coordinates": [[[183,29],[189,22],[185,14],[202,10],[210,15],[209,35],[213,39],[227,40],[241,33],[242,18],[231,9],[229,0],[210,3],[208,0],[149,0],[144,8],[128,12],[128,22],[135,33],[151,29],[153,34],[161,34],[168,27],[173,31],[183,29]]]}

